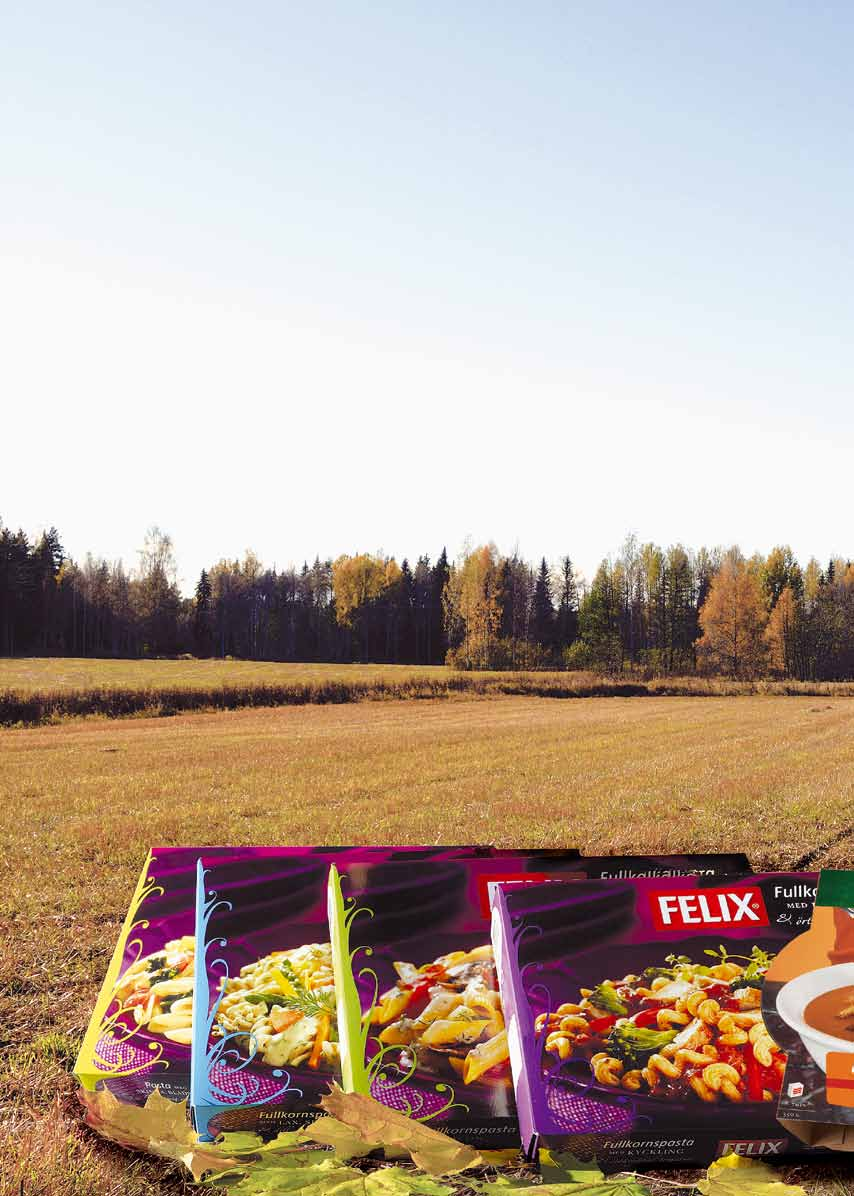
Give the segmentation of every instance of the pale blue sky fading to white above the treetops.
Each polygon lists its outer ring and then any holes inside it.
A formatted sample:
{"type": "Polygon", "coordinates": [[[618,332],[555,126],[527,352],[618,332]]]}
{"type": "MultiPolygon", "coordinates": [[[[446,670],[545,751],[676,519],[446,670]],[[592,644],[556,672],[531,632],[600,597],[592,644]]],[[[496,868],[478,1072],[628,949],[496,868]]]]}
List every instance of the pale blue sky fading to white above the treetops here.
{"type": "Polygon", "coordinates": [[[854,555],[848,4],[13,4],[0,519],[854,555]]]}

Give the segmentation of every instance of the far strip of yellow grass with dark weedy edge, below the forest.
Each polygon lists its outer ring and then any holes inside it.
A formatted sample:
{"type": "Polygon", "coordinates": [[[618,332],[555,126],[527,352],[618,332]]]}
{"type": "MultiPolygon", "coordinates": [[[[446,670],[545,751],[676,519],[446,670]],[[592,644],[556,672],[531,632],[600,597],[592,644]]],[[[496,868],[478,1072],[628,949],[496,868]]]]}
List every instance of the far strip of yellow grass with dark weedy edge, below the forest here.
{"type": "Polygon", "coordinates": [[[0,660],[0,727],[69,718],[327,706],[382,700],[529,696],[854,697],[848,682],[702,677],[605,678],[584,672],[465,673],[440,665],[289,665],[245,660],[0,660]]]}

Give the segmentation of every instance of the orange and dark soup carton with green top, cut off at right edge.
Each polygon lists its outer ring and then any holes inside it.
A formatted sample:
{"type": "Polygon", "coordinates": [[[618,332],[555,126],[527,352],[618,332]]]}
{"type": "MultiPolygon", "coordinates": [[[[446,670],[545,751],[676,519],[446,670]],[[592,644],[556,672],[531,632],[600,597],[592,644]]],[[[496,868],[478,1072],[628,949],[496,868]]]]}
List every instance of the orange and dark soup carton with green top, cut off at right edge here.
{"type": "Polygon", "coordinates": [[[854,872],[821,873],[812,923],[768,969],[762,1012],[788,1055],[781,1123],[854,1151],[854,872]]]}

